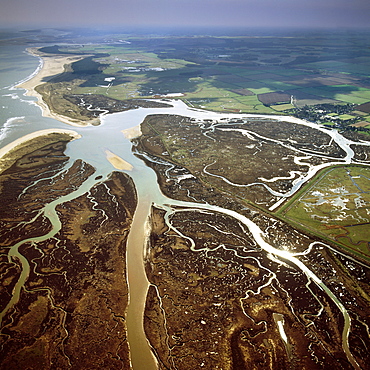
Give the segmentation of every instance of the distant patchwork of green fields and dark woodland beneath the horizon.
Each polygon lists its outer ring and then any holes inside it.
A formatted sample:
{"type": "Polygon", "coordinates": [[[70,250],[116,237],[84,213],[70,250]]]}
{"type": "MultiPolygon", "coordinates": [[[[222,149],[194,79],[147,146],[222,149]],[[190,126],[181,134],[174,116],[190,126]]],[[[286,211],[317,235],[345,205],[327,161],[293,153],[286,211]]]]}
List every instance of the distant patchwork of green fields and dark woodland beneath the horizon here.
{"type": "Polygon", "coordinates": [[[305,40],[306,50],[302,39],[294,37],[279,39],[278,49],[274,38],[117,37],[130,43],[59,49],[94,54],[94,61],[101,64],[99,75],[88,76],[83,83],[69,81],[66,92],[121,100],[181,93],[181,99],[195,107],[271,114],[305,105],[370,101],[368,50],[339,52],[315,38],[305,40]],[[106,78],[114,79],[107,82],[106,78]],[[274,92],[293,96],[294,105],[277,101],[270,107],[258,101],[257,95],[274,92]]]}

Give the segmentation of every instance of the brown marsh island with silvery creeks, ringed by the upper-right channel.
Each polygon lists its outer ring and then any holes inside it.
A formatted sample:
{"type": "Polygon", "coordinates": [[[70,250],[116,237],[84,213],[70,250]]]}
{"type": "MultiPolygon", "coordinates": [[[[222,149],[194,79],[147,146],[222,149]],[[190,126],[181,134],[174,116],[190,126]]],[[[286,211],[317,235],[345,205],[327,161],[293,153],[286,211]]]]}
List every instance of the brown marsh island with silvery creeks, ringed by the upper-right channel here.
{"type": "Polygon", "coordinates": [[[173,196],[176,191],[180,199],[191,194],[201,200],[204,195],[192,193],[192,184],[202,181],[265,210],[292,191],[311,168],[344,158],[343,150],[325,132],[259,117],[202,121],[152,115],[143,122],[142,132],[137,149],[162,160],[148,163],[164,164],[159,171],[165,172],[164,178],[159,181],[166,193],[173,196]]]}

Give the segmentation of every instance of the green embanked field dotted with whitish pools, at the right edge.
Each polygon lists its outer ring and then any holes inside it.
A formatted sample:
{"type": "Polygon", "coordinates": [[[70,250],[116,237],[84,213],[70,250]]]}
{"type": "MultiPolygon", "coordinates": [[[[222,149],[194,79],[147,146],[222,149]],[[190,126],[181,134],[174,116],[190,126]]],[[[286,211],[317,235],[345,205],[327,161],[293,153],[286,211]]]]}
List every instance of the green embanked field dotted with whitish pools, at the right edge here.
{"type": "Polygon", "coordinates": [[[278,213],[370,259],[369,190],[369,167],[335,167],[321,173],[278,213]]]}

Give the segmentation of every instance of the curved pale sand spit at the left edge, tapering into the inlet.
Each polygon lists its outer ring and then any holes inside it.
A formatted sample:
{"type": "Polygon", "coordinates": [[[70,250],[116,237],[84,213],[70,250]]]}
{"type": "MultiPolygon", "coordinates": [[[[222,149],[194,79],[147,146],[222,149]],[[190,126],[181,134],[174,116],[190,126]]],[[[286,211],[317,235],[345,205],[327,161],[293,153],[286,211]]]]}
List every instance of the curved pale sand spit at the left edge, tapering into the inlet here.
{"type": "Polygon", "coordinates": [[[63,129],[40,130],[24,135],[0,149],[0,173],[9,168],[24,152],[39,149],[52,142],[71,141],[80,137],[76,131],[63,129]]]}

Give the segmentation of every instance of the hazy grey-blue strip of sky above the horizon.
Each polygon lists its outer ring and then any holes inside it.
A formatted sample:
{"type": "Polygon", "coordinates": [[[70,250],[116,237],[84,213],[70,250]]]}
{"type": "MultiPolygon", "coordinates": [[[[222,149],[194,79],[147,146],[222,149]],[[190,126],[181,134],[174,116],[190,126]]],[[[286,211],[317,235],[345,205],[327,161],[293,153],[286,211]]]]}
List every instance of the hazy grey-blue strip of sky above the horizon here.
{"type": "Polygon", "coordinates": [[[369,27],[370,0],[0,0],[8,26],[369,27]]]}

